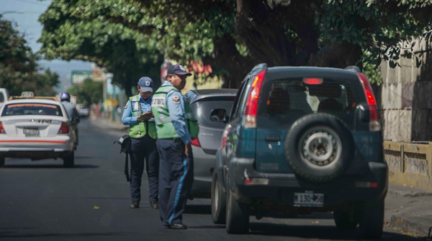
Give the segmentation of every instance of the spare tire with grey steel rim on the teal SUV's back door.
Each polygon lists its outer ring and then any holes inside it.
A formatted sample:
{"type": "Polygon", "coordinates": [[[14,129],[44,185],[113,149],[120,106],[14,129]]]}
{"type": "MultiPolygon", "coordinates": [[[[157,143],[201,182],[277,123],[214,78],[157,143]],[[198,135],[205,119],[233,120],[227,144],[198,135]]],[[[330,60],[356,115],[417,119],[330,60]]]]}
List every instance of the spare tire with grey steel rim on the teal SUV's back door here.
{"type": "Polygon", "coordinates": [[[313,113],[299,118],[285,138],[285,157],[305,181],[330,182],[350,166],[355,145],[350,130],[335,115],[313,113]]]}

